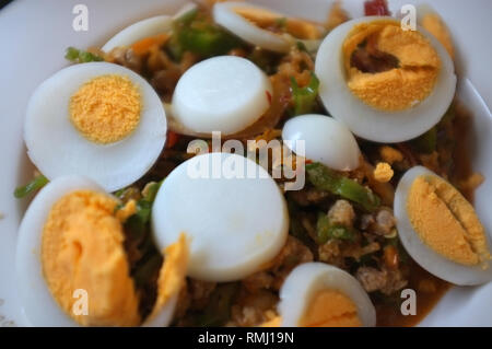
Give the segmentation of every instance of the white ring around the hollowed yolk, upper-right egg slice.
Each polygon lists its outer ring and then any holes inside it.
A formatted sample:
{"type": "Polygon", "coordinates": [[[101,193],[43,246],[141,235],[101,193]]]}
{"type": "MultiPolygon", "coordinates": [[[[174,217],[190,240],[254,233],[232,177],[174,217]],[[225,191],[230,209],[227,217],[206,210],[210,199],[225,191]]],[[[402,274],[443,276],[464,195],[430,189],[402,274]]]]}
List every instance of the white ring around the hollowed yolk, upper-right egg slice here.
{"type": "Polygon", "coordinates": [[[315,72],[319,96],[328,112],[343,121],[356,136],[375,142],[401,142],[415,138],[437,124],[453,102],[456,90],[454,63],[443,45],[418,27],[436,50],[442,67],[431,94],[415,106],[400,112],[383,112],[366,105],[349,89],[343,68],[342,45],[358,24],[388,16],[365,16],[345,22],[331,31],[316,56],[315,72]]]}

